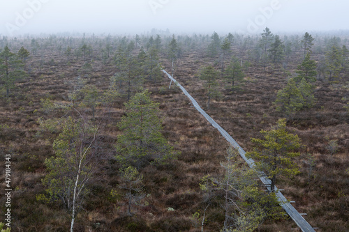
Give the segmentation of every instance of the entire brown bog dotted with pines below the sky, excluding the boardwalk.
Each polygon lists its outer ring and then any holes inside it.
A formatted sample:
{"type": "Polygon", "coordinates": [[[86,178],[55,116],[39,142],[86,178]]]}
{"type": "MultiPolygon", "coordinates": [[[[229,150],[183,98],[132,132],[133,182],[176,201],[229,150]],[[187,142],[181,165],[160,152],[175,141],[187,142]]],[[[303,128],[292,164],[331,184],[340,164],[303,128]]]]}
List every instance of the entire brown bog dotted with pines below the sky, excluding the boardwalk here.
{"type": "MultiPolygon", "coordinates": [[[[12,231],[297,229],[161,70],[316,231],[349,231],[348,39],[268,28],[0,38],[12,231]]],[[[0,180],[3,192],[2,168],[0,180]]]]}

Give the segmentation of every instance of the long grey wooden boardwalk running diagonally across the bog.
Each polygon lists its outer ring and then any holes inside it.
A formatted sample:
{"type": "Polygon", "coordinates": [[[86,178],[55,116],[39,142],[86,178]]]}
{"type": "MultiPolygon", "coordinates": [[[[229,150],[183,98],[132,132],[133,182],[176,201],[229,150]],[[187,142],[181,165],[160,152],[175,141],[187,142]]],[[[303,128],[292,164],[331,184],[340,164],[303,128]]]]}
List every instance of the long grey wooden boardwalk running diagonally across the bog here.
{"type": "MultiPolygon", "coordinates": [[[[242,149],[241,146],[239,146],[239,144],[237,144],[237,141],[235,141],[235,139],[233,139],[230,136],[230,134],[228,134],[228,132],[226,132],[220,125],[218,125],[218,123],[216,123],[216,121],[214,121],[208,114],[206,114],[206,112],[203,109],[201,109],[201,107],[198,105],[198,102],[196,102],[196,100],[186,91],[186,89],[183,86],[181,86],[170,74],[168,74],[168,72],[166,72],[165,70],[162,71],[165,72],[166,75],[168,75],[168,78],[170,78],[172,82],[174,82],[174,84],[181,88],[181,91],[183,91],[183,93],[191,100],[195,109],[197,109],[200,112],[200,114],[202,114],[202,116],[204,116],[207,119],[207,121],[209,121],[209,123],[211,123],[211,125],[213,125],[222,134],[222,136],[225,137],[225,139],[239,151],[241,157],[246,161],[248,166],[251,169],[253,169],[255,165],[254,161],[252,159],[246,158],[246,152],[244,151],[244,149],[242,149]]],[[[269,178],[267,178],[267,176],[263,172],[258,172],[258,177],[260,178],[260,180],[262,180],[262,183],[267,187],[267,190],[270,191],[270,185],[272,181],[269,180],[269,178]]],[[[308,222],[306,222],[304,217],[302,217],[302,215],[300,215],[299,212],[287,201],[285,196],[283,196],[283,194],[281,194],[280,191],[277,191],[277,187],[275,187],[275,190],[276,197],[278,198],[280,206],[288,213],[288,215],[290,215],[290,217],[297,224],[297,226],[299,226],[299,228],[302,229],[302,231],[304,232],[315,232],[313,227],[308,222]]]]}

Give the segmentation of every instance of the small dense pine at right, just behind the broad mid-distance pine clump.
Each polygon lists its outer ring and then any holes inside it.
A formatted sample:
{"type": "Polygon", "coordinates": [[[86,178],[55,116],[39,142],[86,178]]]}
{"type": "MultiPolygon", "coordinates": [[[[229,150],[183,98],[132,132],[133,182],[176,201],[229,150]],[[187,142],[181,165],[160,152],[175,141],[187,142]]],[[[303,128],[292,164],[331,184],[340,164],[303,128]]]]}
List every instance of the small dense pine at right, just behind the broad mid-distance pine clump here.
{"type": "Polygon", "coordinates": [[[315,78],[318,75],[316,72],[316,62],[310,59],[310,54],[306,54],[304,60],[300,65],[297,66],[297,74],[295,77],[295,82],[299,83],[302,79],[305,79],[307,82],[315,82],[315,78]]]}

